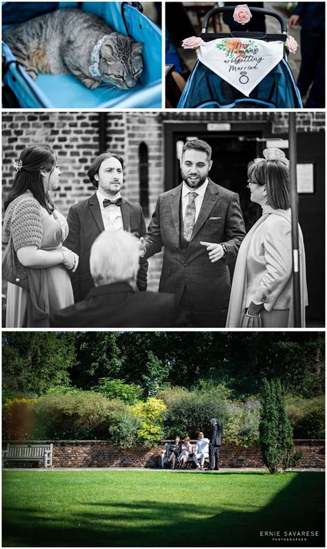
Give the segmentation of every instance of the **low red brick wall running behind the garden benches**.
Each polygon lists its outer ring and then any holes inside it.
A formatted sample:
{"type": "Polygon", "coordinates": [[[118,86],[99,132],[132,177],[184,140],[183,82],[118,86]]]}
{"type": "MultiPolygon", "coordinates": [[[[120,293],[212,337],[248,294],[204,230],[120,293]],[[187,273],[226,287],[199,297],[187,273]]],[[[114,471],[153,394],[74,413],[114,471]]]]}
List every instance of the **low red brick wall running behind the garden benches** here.
{"type": "MultiPolygon", "coordinates": [[[[39,441],[41,442],[41,441],[39,441]]],[[[52,441],[42,441],[43,443],[52,441]]],[[[164,443],[151,450],[135,447],[119,450],[108,441],[53,441],[53,467],[146,467],[161,466],[161,451],[164,443]]],[[[192,441],[193,442],[193,441],[192,441]]],[[[195,442],[195,441],[194,441],[195,442]]],[[[24,442],[23,442],[24,443],[24,442]]],[[[25,443],[27,443],[25,441],[25,443]]],[[[33,443],[30,441],[29,443],[33,443]]],[[[34,441],[35,443],[35,441],[34,441]]],[[[3,443],[6,447],[6,443],[3,443]]],[[[303,452],[300,468],[324,468],[324,441],[295,441],[295,449],[303,452]]],[[[221,447],[221,468],[263,467],[259,447],[221,447]]]]}

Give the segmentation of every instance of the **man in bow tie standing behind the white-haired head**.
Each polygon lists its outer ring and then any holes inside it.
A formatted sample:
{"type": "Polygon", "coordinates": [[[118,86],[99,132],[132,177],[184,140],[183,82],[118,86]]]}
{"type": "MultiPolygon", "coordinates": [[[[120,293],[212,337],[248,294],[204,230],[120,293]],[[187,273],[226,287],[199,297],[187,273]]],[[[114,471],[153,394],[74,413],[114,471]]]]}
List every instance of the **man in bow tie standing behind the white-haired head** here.
{"type": "MultiPolygon", "coordinates": [[[[88,177],[97,192],[87,200],[77,202],[68,212],[69,233],[65,241],[79,256],[79,266],[71,273],[75,302],[88,296],[94,287],[90,273],[90,251],[102,231],[128,231],[140,238],[146,233],[146,223],[139,204],[121,198],[123,159],[115,153],[102,153],[92,162],[88,177]]],[[[146,291],[148,262],[140,260],[137,289],[146,291]]]]}

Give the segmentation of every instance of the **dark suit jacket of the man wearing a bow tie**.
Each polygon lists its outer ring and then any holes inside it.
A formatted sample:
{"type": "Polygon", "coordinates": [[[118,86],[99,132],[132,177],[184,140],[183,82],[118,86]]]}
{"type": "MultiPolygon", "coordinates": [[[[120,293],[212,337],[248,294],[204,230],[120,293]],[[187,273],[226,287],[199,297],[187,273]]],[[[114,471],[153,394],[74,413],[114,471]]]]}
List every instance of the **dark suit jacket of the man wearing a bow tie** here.
{"type": "MultiPolygon", "coordinates": [[[[146,223],[143,211],[139,204],[132,204],[123,199],[121,203],[121,217],[123,229],[134,233],[140,238],[146,233],[146,223]]],[[[97,195],[94,194],[86,200],[70,206],[68,212],[69,233],[64,245],[75,251],[79,256],[79,266],[75,273],[70,273],[75,302],[85,299],[94,282],[90,273],[90,251],[97,236],[104,231],[101,210],[97,195]]],[[[139,273],[137,274],[137,287],[139,291],[146,291],[148,262],[140,260],[139,273]]]]}

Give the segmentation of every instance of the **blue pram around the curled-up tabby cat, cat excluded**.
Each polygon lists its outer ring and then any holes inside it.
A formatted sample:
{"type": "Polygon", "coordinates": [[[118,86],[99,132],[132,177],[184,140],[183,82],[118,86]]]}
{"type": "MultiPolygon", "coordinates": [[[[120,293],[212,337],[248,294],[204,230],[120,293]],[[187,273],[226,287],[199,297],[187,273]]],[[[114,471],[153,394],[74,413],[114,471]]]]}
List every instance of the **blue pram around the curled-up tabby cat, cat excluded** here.
{"type": "Polygon", "coordinates": [[[104,90],[103,86],[89,90],[73,75],[39,74],[34,81],[17,64],[10,48],[2,43],[4,107],[161,107],[161,30],[143,15],[139,2],[3,2],[3,28],[59,8],[80,8],[95,14],[117,32],[143,42],[144,68],[140,82],[131,90],[104,90]]]}

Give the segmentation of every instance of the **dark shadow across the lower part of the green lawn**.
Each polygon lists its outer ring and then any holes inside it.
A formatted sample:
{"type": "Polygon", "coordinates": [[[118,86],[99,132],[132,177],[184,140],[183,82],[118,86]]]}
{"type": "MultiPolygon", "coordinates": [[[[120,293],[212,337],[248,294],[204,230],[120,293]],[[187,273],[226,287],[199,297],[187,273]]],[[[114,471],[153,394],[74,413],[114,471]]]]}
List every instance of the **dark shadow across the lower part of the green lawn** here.
{"type": "MultiPolygon", "coordinates": [[[[212,485],[212,501],[206,501],[211,505],[211,517],[208,517],[208,506],[201,508],[191,503],[191,490],[189,501],[175,503],[172,483],[171,501],[81,503],[80,510],[68,517],[44,516],[32,505],[21,509],[7,508],[3,511],[3,546],[166,547],[172,545],[172,539],[174,546],[324,546],[324,521],[319,513],[324,500],[321,475],[299,473],[266,507],[257,510],[255,504],[238,504],[237,511],[228,509],[226,503],[213,503],[219,493],[221,475],[212,476],[217,483],[212,485]],[[88,510],[83,510],[83,507],[88,510]],[[298,534],[296,537],[291,535],[287,542],[281,543],[260,533],[279,531],[282,535],[284,531],[304,530],[319,531],[320,535],[305,539],[300,534],[301,540],[298,534]]],[[[201,490],[198,482],[192,485],[196,486],[195,490],[201,490]]]]}

